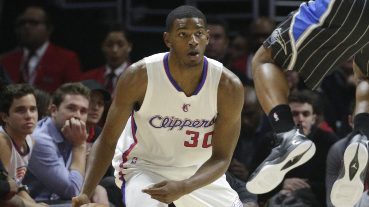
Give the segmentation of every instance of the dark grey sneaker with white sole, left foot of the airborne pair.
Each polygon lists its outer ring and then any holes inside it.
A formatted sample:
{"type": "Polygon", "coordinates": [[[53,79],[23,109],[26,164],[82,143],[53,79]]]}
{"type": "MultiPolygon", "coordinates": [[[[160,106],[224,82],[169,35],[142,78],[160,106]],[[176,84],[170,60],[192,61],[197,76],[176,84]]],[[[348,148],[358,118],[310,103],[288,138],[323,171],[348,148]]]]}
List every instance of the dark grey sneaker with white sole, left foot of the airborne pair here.
{"type": "Polygon", "coordinates": [[[284,175],[307,162],[315,154],[315,145],[303,131],[293,127],[290,131],[274,134],[277,147],[256,168],[246,183],[254,194],[267,193],[282,182],[284,175]]]}

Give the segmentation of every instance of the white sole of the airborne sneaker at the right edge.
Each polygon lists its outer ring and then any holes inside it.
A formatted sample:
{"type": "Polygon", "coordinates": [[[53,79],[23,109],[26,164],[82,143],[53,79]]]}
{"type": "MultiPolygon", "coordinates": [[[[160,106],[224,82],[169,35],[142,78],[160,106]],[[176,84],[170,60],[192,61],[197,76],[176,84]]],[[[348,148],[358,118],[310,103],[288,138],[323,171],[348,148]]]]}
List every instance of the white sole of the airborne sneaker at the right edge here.
{"type": "Polygon", "coordinates": [[[334,206],[352,207],[358,202],[364,190],[364,184],[360,179],[360,174],[365,169],[367,163],[368,150],[363,144],[352,143],[348,145],[344,154],[345,175],[334,182],[331,190],[331,201],[334,206]],[[358,171],[352,180],[350,180],[350,163],[355,158],[356,151],[358,153],[359,166],[355,166],[358,168],[358,171]]]}

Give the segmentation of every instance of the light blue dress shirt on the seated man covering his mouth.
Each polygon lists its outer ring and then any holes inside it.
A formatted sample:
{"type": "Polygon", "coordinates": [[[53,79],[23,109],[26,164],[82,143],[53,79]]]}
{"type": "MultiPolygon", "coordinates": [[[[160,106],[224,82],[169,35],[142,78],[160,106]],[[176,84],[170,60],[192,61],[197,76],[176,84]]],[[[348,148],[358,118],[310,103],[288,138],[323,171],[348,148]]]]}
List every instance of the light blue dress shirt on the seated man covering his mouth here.
{"type": "Polygon", "coordinates": [[[72,199],[82,186],[83,176],[69,170],[72,143],[56,129],[51,117],[41,119],[32,133],[34,150],[23,184],[36,201],[72,199]]]}

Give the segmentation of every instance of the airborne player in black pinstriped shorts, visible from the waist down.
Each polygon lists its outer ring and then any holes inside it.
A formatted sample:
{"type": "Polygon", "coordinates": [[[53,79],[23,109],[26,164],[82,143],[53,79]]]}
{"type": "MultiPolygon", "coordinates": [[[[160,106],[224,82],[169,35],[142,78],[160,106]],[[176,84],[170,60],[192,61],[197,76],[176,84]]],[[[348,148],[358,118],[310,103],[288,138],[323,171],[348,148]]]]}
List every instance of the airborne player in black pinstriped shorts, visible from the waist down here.
{"type": "Polygon", "coordinates": [[[354,130],[331,199],[336,206],[353,206],[359,199],[368,161],[368,16],[368,0],[309,1],[278,25],[256,52],[252,60],[256,92],[280,145],[251,175],[246,185],[250,192],[272,190],[286,172],[306,162],[315,152],[314,143],[293,123],[283,71],[298,71],[305,84],[316,89],[325,76],[354,56],[354,130]]]}

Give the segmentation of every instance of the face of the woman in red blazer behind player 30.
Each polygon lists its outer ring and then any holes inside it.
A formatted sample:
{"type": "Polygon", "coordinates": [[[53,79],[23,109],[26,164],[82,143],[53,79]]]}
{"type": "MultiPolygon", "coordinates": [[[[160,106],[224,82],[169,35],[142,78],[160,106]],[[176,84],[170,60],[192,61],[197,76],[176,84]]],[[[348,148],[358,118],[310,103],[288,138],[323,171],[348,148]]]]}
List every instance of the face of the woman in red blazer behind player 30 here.
{"type": "Polygon", "coordinates": [[[110,32],[102,46],[108,66],[117,68],[123,64],[128,59],[131,46],[123,32],[110,32]]]}

